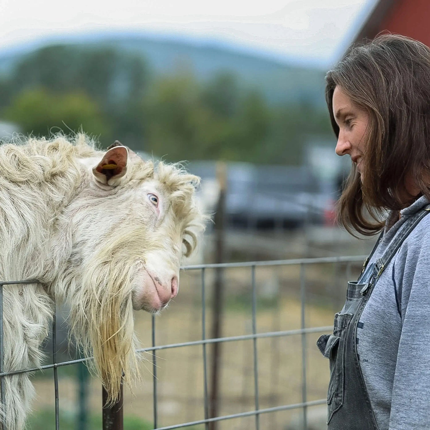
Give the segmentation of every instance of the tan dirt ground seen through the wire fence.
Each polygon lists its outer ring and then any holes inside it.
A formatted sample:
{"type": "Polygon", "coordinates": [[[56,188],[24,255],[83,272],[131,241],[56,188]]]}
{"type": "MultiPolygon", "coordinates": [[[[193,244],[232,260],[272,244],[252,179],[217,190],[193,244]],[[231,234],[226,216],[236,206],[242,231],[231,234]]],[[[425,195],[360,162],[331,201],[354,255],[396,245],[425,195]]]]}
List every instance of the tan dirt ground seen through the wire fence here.
{"type": "MultiPolygon", "coordinates": [[[[344,301],[347,277],[356,276],[359,264],[312,264],[302,272],[305,286],[304,321],[306,327],[332,325],[333,314],[344,301]],[[349,273],[348,273],[349,272],[349,273]]],[[[301,267],[258,267],[257,288],[258,333],[299,329],[301,327],[301,267]]],[[[221,313],[221,336],[252,333],[251,268],[224,271],[224,298],[221,313]]],[[[212,294],[214,270],[206,270],[206,337],[212,337],[212,294]]],[[[156,343],[172,344],[202,338],[201,271],[181,274],[181,292],[156,318],[156,343]]],[[[151,346],[151,316],[135,314],[135,326],[143,347],[151,346]]],[[[306,399],[326,397],[329,363],[319,353],[316,340],[322,333],[304,337],[306,361],[306,399]]],[[[253,341],[221,344],[218,415],[229,415],[255,409],[253,341]]],[[[208,380],[212,369],[212,346],[207,347],[208,380]]],[[[201,345],[157,351],[158,426],[168,426],[204,418],[203,347],[201,345]]],[[[262,338],[257,341],[259,407],[299,403],[303,396],[302,336],[262,338]]],[[[146,353],[144,358],[151,360],[146,353]]],[[[68,366],[69,367],[69,366],[68,366]]],[[[52,375],[52,372],[45,372],[52,375]]],[[[141,364],[142,381],[133,386],[133,395],[125,389],[124,414],[152,421],[152,363],[141,364]]],[[[77,410],[77,379],[71,369],[59,368],[59,404],[61,414],[77,410]]],[[[208,383],[209,383],[208,382],[208,383]]],[[[53,407],[52,378],[35,378],[35,410],[53,407]]],[[[210,389],[210,387],[209,387],[210,389]]],[[[101,385],[91,379],[89,408],[101,411],[101,385]]],[[[261,429],[284,430],[297,419],[300,411],[264,414],[261,429]]],[[[255,417],[221,421],[218,430],[255,428],[255,417]]],[[[203,427],[202,427],[203,429],[203,427]]]]}

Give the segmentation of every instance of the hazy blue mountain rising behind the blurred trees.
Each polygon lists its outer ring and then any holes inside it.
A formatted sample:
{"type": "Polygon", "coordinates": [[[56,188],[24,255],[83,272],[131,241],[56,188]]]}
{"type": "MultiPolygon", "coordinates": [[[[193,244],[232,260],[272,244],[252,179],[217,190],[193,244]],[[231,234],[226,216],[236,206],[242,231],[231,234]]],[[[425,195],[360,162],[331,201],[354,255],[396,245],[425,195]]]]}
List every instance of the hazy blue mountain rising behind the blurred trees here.
{"type": "Polygon", "coordinates": [[[267,100],[324,104],[324,71],[305,67],[303,61],[277,61],[267,56],[246,52],[239,46],[215,41],[157,36],[136,32],[100,32],[60,39],[49,38],[0,50],[0,73],[7,74],[24,55],[48,44],[112,46],[141,54],[153,73],[191,70],[201,80],[219,72],[239,77],[243,86],[260,89],[267,100]]]}

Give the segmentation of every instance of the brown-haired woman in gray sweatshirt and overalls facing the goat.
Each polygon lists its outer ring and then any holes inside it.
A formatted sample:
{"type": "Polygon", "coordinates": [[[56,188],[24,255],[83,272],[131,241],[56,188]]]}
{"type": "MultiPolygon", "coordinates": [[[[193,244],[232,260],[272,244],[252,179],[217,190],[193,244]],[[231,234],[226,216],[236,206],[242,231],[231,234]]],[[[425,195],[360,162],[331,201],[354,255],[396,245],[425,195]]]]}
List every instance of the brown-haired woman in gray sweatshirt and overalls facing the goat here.
{"type": "Polygon", "coordinates": [[[317,343],[330,359],[327,423],[430,429],[430,49],[380,36],[326,83],[336,153],[353,162],[339,218],[351,233],[382,230],[317,343]]]}

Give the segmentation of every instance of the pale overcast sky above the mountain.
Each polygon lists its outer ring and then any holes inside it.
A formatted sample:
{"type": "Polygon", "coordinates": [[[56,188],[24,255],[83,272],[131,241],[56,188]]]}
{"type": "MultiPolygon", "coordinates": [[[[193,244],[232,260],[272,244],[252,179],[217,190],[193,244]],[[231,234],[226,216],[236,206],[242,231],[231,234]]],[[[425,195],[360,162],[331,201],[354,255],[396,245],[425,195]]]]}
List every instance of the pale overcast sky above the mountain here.
{"type": "Polygon", "coordinates": [[[279,59],[330,64],[376,0],[0,0],[0,49],[83,32],[215,40],[279,59]]]}

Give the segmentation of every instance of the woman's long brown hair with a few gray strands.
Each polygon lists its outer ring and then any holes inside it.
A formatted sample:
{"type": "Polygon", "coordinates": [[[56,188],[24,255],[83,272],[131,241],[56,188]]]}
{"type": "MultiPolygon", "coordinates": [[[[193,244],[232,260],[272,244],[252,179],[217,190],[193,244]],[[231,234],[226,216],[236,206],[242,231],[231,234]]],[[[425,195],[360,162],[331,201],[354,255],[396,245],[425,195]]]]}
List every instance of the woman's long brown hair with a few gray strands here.
{"type": "Polygon", "coordinates": [[[413,200],[406,178],[430,200],[430,49],[393,34],[350,49],[326,75],[338,137],[336,86],[369,114],[361,178],[353,165],[339,200],[339,221],[350,233],[372,235],[384,226],[387,209],[400,210],[413,200]]]}

